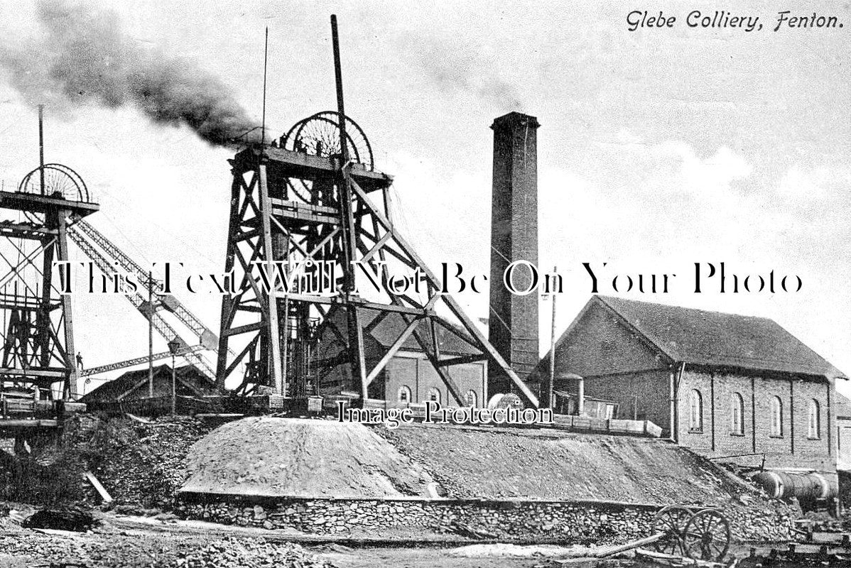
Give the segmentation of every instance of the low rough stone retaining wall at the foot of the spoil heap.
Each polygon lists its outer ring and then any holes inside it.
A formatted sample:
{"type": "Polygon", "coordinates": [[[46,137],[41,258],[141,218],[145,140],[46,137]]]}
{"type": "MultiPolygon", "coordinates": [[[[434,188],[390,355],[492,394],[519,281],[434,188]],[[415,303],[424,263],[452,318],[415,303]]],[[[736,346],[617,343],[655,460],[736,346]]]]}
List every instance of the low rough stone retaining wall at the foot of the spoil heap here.
{"type": "MultiPolygon", "coordinates": [[[[340,535],[357,529],[408,529],[412,534],[466,526],[501,541],[553,540],[612,544],[648,537],[656,505],[608,502],[480,501],[470,499],[272,499],[182,494],[180,516],[228,525],[290,528],[340,535]]],[[[791,537],[788,515],[774,509],[725,511],[737,540],[791,537]]]]}

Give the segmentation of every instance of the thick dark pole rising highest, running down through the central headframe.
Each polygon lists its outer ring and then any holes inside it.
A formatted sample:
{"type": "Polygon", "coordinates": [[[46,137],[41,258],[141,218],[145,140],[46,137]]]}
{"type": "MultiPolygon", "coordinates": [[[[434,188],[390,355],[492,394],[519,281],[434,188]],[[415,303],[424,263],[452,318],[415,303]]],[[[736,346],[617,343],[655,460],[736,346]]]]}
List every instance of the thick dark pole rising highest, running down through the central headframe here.
{"type": "Polygon", "coordinates": [[[349,180],[349,147],[346,136],[346,109],[343,105],[343,71],[340,63],[340,35],[337,32],[337,16],[331,15],[331,43],[334,48],[334,78],[337,84],[337,118],[340,128],[340,213],[343,216],[343,238],[346,245],[345,275],[346,309],[349,324],[349,354],[351,356],[352,375],[360,379],[361,399],[367,400],[367,371],[363,355],[363,328],[357,306],[351,302],[351,293],[355,290],[355,273],[351,261],[357,256],[357,227],[351,208],[351,184],[349,180]],[[353,355],[353,356],[352,356],[353,355]]]}

